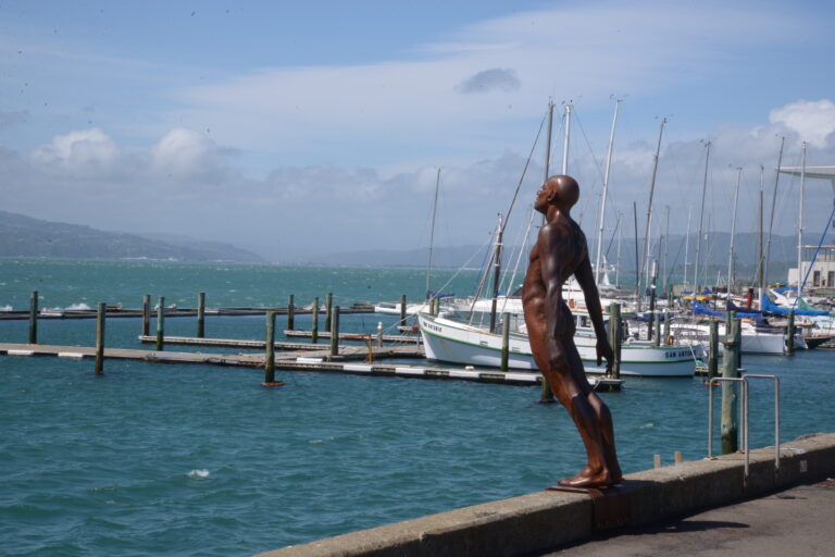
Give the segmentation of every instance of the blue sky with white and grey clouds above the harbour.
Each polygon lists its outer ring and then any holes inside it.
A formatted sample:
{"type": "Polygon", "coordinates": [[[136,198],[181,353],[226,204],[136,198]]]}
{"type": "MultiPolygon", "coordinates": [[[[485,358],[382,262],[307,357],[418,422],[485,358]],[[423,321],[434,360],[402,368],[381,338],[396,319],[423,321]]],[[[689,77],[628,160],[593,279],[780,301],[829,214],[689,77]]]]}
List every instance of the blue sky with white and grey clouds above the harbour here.
{"type": "MultiPolygon", "coordinates": [[[[730,230],[737,166],[737,230],[753,230],[759,165],[770,191],[781,136],[784,164],[806,140],[808,164],[835,165],[826,2],[401,4],[0,2],[3,209],[278,261],[411,249],[440,166],[438,243],[482,244],[549,98],[556,129],[562,103],[576,108],[569,171],[589,236],[613,98],[611,222],[633,201],[646,212],[663,116],[656,214],[670,207],[673,233],[698,209],[705,140],[715,230],[730,230]]],[[[775,224],[790,234],[799,185],[781,181],[775,224]]],[[[807,230],[823,230],[832,196],[807,184],[807,230]]]]}

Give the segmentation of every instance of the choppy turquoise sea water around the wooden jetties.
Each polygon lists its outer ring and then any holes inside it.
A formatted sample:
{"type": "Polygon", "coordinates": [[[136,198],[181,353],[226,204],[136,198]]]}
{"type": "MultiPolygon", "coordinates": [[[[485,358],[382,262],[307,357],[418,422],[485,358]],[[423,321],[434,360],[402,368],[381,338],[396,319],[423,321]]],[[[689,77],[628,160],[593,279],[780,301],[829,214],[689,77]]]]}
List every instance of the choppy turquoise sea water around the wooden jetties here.
{"type": "MultiPolygon", "coordinates": [[[[450,276],[451,273],[446,273],[450,276]]],[[[446,280],[446,278],[445,278],[446,280]]],[[[469,294],[473,273],[444,289],[469,294]]],[[[435,285],[440,287],[440,285],[435,285]]],[[[98,301],[138,307],[142,294],[194,307],[419,299],[411,270],[180,263],[0,261],[0,306],[98,301]]],[[[283,326],[279,317],[279,327],[283,326]]],[[[345,315],[345,330],[390,317],[345,315]]],[[[166,320],[190,335],[194,318],[166,320]]],[[[108,321],[107,345],[139,347],[139,320],[108,321]]],[[[308,327],[309,318],[297,318],[308,327]]],[[[207,318],[210,336],[262,338],[263,317],[207,318]]],[[[43,344],[91,345],[95,321],[42,321],[43,344]]],[[[25,342],[0,321],[0,342],[25,342]]],[[[180,349],[177,347],[177,349],[180,349]]],[[[746,357],[782,381],[782,434],[835,431],[827,351],[746,357]]],[[[394,377],[0,357],[0,547],[3,555],[250,555],[537,491],[583,466],[579,437],[536,387],[394,377]]],[[[752,386],[751,444],[773,442],[772,386],[752,386]]],[[[673,451],[707,450],[707,392],[693,380],[627,380],[602,395],[625,472],[673,451]]]]}

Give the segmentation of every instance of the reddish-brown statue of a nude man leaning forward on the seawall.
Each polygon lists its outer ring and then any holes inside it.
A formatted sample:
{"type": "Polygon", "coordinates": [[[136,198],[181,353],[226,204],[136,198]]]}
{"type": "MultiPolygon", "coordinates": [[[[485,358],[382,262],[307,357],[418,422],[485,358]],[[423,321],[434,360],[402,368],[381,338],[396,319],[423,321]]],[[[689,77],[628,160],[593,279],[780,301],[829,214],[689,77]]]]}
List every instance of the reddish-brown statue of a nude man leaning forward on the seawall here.
{"type": "Polygon", "coordinates": [[[534,208],[545,214],[546,224],[531,250],[522,304],[534,359],[574,419],[588,457],[579,473],[559,483],[568,487],[605,487],[623,479],[614,450],[612,416],[588,384],[574,345],[574,319],[562,299],[562,285],[574,274],[597,334],[597,363],[606,358],[610,368],[614,354],[603,326],[586,237],[570,214],[577,198],[579,186],[571,176],[551,176],[536,194],[534,208]]]}

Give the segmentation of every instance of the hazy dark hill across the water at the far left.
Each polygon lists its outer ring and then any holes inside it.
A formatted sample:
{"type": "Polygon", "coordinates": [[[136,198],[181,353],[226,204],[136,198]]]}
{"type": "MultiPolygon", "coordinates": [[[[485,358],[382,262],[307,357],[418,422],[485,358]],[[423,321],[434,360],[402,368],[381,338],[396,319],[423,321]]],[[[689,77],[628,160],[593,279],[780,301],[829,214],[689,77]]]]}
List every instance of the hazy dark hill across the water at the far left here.
{"type": "Polygon", "coordinates": [[[41,221],[0,211],[0,257],[57,259],[172,259],[177,261],[262,262],[229,244],[177,237],[151,238],[104,232],[78,224],[41,221]]]}

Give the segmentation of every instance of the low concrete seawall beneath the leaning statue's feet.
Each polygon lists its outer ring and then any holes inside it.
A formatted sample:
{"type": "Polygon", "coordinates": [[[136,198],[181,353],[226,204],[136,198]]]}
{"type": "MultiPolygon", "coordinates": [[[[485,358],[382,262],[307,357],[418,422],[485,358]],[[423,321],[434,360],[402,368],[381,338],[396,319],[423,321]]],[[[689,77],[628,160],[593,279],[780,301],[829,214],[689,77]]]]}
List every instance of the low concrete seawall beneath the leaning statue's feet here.
{"type": "Polygon", "coordinates": [[[578,542],[595,532],[638,527],[720,507],[835,475],[835,434],[805,436],[750,453],[628,474],[602,496],[541,491],[362,530],[260,557],[524,556],[578,542]]]}

